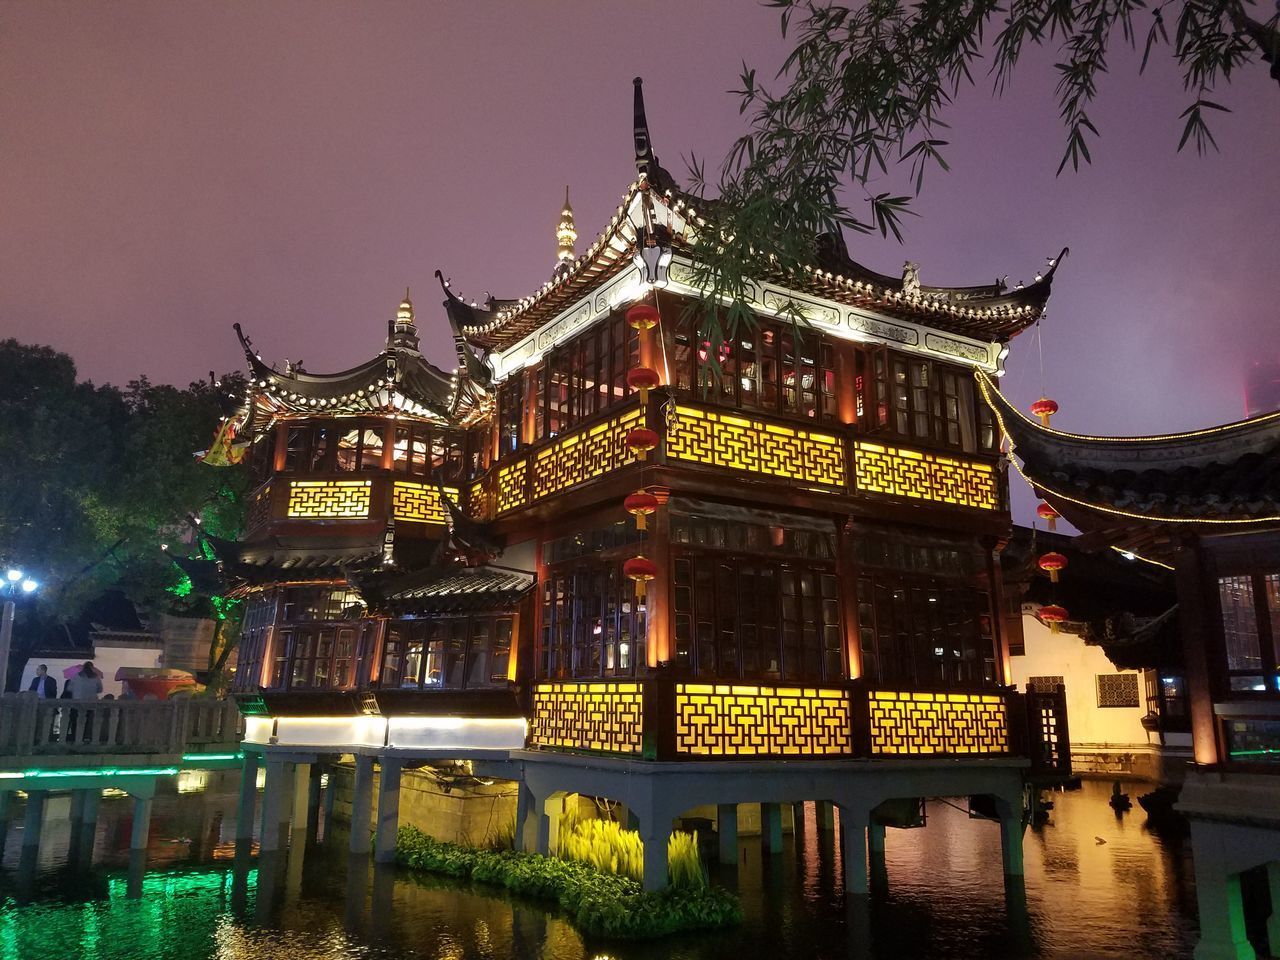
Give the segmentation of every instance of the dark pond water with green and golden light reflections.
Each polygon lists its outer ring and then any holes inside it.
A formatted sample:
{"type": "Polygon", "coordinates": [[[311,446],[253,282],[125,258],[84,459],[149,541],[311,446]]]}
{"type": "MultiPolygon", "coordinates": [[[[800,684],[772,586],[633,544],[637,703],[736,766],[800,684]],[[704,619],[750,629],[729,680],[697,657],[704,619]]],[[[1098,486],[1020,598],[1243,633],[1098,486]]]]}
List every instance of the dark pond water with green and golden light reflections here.
{"type": "Polygon", "coordinates": [[[740,869],[717,873],[741,895],[740,928],[645,945],[584,943],[532,901],[351,865],[337,831],[333,849],[237,863],[233,786],[156,800],[137,900],[124,869],[129,801],[102,801],[90,873],[67,867],[67,814],[54,803],[40,872],[19,881],[14,822],[0,960],[1139,960],[1190,956],[1196,938],[1189,842],[1149,831],[1140,809],[1117,818],[1102,783],[1056,795],[1050,823],[1027,832],[1025,910],[1006,904],[997,827],[945,801],[929,803],[925,828],[888,831],[887,891],[846,902],[838,844],[813,828],[810,808],[786,852],[762,856],[746,838],[740,869]]]}

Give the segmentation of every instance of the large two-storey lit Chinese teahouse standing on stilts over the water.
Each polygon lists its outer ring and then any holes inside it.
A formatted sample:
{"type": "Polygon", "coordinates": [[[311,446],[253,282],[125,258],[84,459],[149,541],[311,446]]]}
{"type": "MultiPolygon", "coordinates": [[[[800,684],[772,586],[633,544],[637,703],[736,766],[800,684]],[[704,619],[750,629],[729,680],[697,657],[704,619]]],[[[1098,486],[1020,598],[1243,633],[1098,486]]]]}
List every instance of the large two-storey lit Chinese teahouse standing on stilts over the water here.
{"type": "Polygon", "coordinates": [[[543,287],[444,284],[456,370],[422,357],[408,297],[340,374],[242,337],[259,486],[215,548],[250,603],[264,849],[289,764],[351,754],[357,823],[381,771],[379,856],[402,765],[463,762],[520,782],[540,849],[564,795],[625,804],[648,886],[691,808],[732,855],[737,804],[776,836],[780,805],[818,801],[861,892],[884,804],[927,796],[980,797],[1019,876],[1029,772],[1069,758],[1061,699],[1007,686],[1006,476],[974,374],[1004,372],[1056,260],[1016,289],[928,287],[828,239],[801,278],[758,278],[750,329],[703,337],[712,214],[658,164],[639,81],[634,127],[616,215],[579,252],[566,200],[543,287]]]}

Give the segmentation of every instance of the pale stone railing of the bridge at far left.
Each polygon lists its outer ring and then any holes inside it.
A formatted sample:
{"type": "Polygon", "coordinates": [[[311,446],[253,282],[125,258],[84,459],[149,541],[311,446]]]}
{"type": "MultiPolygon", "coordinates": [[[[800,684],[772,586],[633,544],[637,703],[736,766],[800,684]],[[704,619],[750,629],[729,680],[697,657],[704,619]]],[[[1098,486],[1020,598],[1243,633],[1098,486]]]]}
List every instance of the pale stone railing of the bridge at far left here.
{"type": "Polygon", "coordinates": [[[22,758],[238,749],[244,724],[232,700],[41,700],[0,696],[0,764],[22,758]]]}

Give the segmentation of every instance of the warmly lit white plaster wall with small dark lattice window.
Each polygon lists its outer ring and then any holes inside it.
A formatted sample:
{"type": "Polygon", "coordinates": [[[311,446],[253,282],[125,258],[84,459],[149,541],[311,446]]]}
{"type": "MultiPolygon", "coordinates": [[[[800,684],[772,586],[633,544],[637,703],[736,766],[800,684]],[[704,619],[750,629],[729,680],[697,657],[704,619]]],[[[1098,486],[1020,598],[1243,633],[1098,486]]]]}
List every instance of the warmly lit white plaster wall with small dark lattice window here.
{"type": "Polygon", "coordinates": [[[1147,748],[1158,744],[1156,735],[1142,728],[1147,713],[1146,687],[1140,671],[1119,671],[1102,653],[1074,634],[1053,634],[1029,613],[1023,614],[1027,654],[1011,657],[1012,682],[1027,689],[1028,677],[1061,676],[1066,685],[1066,719],[1071,746],[1147,748]],[[1098,673],[1138,673],[1140,707],[1098,707],[1098,673]]]}

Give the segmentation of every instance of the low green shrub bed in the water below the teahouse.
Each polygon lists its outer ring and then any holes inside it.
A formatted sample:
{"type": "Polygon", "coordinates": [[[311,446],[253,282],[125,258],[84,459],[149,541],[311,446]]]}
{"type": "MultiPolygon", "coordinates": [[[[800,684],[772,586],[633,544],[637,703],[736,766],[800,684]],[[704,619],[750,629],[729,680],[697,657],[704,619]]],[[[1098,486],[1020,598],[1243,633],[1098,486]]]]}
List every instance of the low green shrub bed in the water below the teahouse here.
{"type": "MultiPolygon", "coordinates": [[[[401,827],[396,859],[410,869],[468,878],[521,896],[554,901],[573,925],[590,937],[648,940],[740,923],[742,910],[737,897],[707,884],[696,856],[696,838],[682,836],[692,842],[692,863],[700,884],[672,886],[659,893],[646,893],[631,877],[603,873],[579,860],[471,850],[433,840],[413,827],[401,827]]],[[[677,847],[686,842],[677,841],[677,847]]],[[[668,844],[668,856],[671,850],[668,844]]],[[[681,850],[678,860],[681,867],[673,868],[673,877],[677,869],[681,874],[690,869],[687,850],[681,850]]]]}

